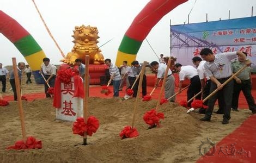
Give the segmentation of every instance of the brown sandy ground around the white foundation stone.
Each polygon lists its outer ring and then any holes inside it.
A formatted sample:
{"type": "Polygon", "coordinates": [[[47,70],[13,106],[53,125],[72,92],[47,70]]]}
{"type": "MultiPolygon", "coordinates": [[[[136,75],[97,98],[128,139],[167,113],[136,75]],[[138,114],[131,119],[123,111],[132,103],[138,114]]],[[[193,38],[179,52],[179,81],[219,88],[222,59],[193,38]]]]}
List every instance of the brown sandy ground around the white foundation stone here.
{"type": "MultiPolygon", "coordinates": [[[[9,86],[9,85],[8,85],[9,86]]],[[[42,92],[43,85],[28,84],[25,93],[42,92]]],[[[5,93],[12,95],[12,92],[5,93]]],[[[152,109],[156,101],[139,101],[135,127],[139,136],[121,140],[120,131],[131,124],[135,99],[89,98],[89,115],[100,120],[100,128],[88,137],[82,146],[82,137],[72,134],[72,122],[55,120],[52,99],[32,102],[22,101],[27,136],[42,140],[42,149],[7,151],[21,139],[19,111],[16,102],[0,106],[0,160],[1,162],[195,162],[199,158],[200,140],[208,136],[220,141],[249,116],[249,110],[231,112],[227,125],[221,124],[222,115],[214,114],[212,122],[199,121],[202,115],[186,114],[186,109],[176,103],[161,105],[164,113],[160,128],[147,129],[144,112],[152,109]]]]}

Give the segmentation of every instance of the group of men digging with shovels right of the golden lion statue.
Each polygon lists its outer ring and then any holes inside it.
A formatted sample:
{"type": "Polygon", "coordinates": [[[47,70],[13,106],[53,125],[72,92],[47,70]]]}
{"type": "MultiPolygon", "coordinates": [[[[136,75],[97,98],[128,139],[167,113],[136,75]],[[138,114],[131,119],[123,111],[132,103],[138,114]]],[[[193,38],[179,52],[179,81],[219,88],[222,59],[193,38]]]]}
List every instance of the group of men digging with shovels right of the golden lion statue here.
{"type": "MultiPolygon", "coordinates": [[[[153,61],[148,66],[152,72],[156,73],[157,79],[155,81],[155,87],[159,84],[159,81],[163,78],[164,72],[167,67],[167,59],[160,55],[159,62],[153,61]]],[[[127,61],[123,62],[120,66],[121,73],[118,71],[118,67],[111,64],[109,59],[105,60],[105,63],[109,67],[111,76],[116,77],[119,86],[114,86],[114,96],[118,96],[118,91],[123,89],[123,83],[126,82],[128,85],[126,89],[131,88],[131,85],[135,82],[141,71],[142,65],[138,61],[132,61],[131,67],[127,65],[127,61]]],[[[243,92],[246,97],[246,101],[249,106],[249,110],[253,114],[256,113],[256,105],[252,96],[252,81],[251,81],[251,61],[247,59],[245,52],[228,52],[221,54],[214,54],[211,49],[204,48],[200,52],[200,57],[193,57],[192,63],[196,66],[191,65],[182,66],[180,63],[174,65],[175,72],[179,73],[179,88],[178,91],[181,93],[182,82],[190,79],[190,85],[187,89],[187,101],[196,96],[196,99],[204,99],[208,97],[211,92],[218,89],[217,93],[212,95],[208,100],[204,102],[204,105],[208,106],[208,109],[200,108],[199,114],[204,114],[201,121],[211,121],[212,112],[216,101],[218,100],[218,110],[214,111],[216,114],[223,114],[222,124],[228,124],[231,118],[231,108],[234,111],[238,110],[239,95],[243,92]],[[243,66],[247,66],[245,70],[237,74],[233,79],[229,80],[230,77],[239,71],[243,66]],[[229,81],[227,81],[229,80],[229,81]],[[227,82],[226,82],[227,81],[227,82]],[[225,83],[226,84],[223,84],[225,83]],[[200,93],[201,92],[201,93],[200,93]],[[232,96],[230,96],[232,95],[232,96]]],[[[166,84],[164,85],[165,98],[172,97],[175,94],[174,91],[174,76],[172,71],[168,71],[166,84]]],[[[137,96],[138,82],[133,88],[133,97],[137,96]]],[[[147,78],[143,77],[142,83],[142,95],[147,95],[147,78]]],[[[175,96],[169,99],[170,102],[175,101],[175,96]]],[[[191,107],[191,102],[188,103],[188,107],[191,107]]]]}

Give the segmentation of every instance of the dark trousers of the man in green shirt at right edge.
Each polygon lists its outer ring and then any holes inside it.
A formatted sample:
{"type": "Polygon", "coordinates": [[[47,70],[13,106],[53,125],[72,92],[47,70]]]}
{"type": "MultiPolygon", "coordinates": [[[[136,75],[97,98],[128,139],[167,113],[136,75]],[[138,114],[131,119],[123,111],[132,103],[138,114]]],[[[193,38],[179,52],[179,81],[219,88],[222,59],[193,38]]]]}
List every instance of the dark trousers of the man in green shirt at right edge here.
{"type": "Polygon", "coordinates": [[[237,84],[234,81],[234,92],[233,92],[233,99],[232,99],[232,108],[237,109],[238,108],[238,101],[239,101],[239,95],[240,92],[243,92],[243,95],[245,96],[245,99],[247,101],[247,104],[249,106],[250,110],[255,110],[256,105],[254,102],[254,98],[252,97],[252,83],[251,80],[242,80],[241,84],[237,84]]]}

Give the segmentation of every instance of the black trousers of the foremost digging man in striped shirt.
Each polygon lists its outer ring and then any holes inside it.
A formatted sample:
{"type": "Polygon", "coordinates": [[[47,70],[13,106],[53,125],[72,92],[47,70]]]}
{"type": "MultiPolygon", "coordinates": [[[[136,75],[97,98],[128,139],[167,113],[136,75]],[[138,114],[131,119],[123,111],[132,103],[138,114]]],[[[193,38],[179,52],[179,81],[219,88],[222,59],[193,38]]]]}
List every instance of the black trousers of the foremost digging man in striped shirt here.
{"type": "MultiPolygon", "coordinates": [[[[228,77],[229,78],[229,77],[228,77]]],[[[218,81],[223,84],[228,78],[218,79],[218,81]]],[[[223,98],[223,118],[230,119],[230,110],[232,103],[232,94],[233,94],[234,82],[231,80],[229,83],[223,86],[223,88],[215,93],[208,101],[208,109],[205,111],[205,118],[211,118],[212,111],[214,111],[214,104],[218,99],[218,96],[223,98]]],[[[214,82],[211,82],[210,93],[217,89],[217,85],[214,82]]]]}

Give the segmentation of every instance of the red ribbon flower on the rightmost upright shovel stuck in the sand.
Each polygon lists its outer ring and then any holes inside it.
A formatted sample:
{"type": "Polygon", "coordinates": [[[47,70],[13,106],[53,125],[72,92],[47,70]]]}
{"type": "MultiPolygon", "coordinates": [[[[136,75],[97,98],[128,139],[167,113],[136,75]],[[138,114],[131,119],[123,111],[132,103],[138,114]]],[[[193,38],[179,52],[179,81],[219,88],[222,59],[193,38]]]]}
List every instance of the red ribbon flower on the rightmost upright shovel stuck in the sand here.
{"type": "Polygon", "coordinates": [[[159,112],[158,114],[156,114],[156,110],[155,109],[151,109],[147,112],[145,112],[145,114],[143,115],[143,120],[149,124],[150,127],[154,127],[156,126],[160,126],[160,119],[164,119],[164,114],[162,112],[159,112]]]}

